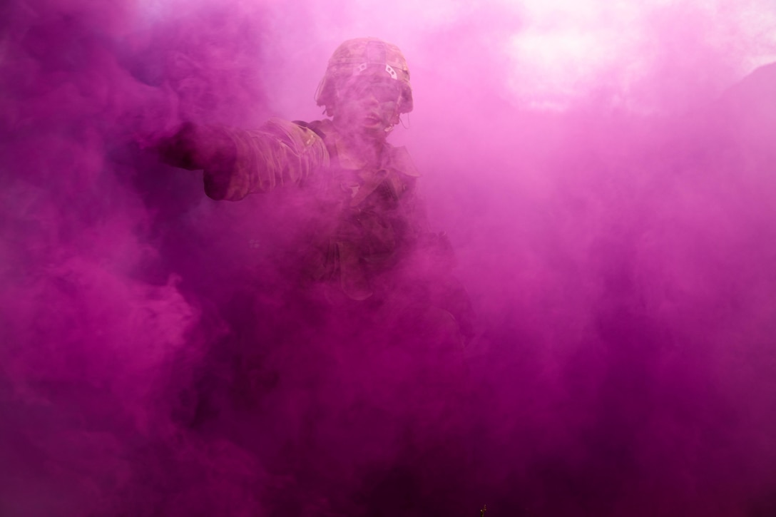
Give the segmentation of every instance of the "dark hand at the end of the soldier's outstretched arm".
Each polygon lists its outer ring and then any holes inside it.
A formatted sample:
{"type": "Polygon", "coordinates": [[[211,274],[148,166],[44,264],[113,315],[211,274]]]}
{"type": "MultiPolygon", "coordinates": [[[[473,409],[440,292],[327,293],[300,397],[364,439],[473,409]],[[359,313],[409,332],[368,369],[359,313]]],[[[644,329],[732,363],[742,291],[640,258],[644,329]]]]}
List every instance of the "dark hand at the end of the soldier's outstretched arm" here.
{"type": "Polygon", "coordinates": [[[237,154],[234,142],[224,130],[191,122],[183,123],[174,135],[155,147],[161,161],[189,171],[230,170],[237,154]]]}

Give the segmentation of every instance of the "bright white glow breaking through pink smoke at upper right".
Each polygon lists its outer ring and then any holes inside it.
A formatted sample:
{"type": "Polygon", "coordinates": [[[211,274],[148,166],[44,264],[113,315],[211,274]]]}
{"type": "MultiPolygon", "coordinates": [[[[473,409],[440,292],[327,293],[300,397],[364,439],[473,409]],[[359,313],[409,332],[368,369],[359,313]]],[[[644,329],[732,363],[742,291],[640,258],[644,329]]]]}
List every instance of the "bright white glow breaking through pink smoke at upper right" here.
{"type": "Polygon", "coordinates": [[[506,81],[520,105],[562,109],[601,98],[643,109],[660,99],[639,98],[638,92],[663,75],[716,92],[776,57],[776,13],[767,2],[504,5],[521,15],[521,26],[504,43],[511,61],[506,81]],[[727,76],[718,74],[722,70],[727,76]],[[708,85],[697,84],[703,81],[708,85]]]}

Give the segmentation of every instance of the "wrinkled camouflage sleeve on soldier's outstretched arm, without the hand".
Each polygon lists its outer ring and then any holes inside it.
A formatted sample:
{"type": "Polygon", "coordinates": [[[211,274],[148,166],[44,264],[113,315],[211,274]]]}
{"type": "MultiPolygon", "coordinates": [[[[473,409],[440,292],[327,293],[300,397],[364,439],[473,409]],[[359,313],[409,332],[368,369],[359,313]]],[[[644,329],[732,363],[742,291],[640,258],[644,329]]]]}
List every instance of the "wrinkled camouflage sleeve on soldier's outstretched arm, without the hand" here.
{"type": "Polygon", "coordinates": [[[205,169],[205,193],[237,201],[278,186],[302,186],[329,164],[324,141],[307,127],[270,119],[258,130],[220,128],[234,144],[234,165],[205,169]]]}

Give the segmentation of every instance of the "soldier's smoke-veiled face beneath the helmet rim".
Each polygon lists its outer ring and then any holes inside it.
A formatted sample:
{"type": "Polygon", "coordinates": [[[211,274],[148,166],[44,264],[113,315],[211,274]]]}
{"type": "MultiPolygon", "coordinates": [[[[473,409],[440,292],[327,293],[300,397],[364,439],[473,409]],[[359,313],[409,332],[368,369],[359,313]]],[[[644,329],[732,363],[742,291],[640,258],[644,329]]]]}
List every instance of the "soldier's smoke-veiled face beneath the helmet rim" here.
{"type": "Polygon", "coordinates": [[[334,122],[346,130],[386,137],[398,122],[401,85],[381,76],[356,76],[338,92],[334,122]]]}

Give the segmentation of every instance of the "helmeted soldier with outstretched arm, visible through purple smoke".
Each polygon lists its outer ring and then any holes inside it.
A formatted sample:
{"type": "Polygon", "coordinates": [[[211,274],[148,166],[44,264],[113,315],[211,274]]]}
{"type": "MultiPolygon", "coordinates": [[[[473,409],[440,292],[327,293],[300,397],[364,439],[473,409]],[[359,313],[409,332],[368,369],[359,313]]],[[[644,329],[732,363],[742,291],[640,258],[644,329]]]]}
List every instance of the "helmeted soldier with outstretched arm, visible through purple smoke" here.
{"type": "Polygon", "coordinates": [[[468,335],[468,300],[449,276],[452,248],[445,234],[428,231],[407,150],[386,141],[413,108],[401,51],[372,37],[345,41],[329,60],[316,101],[331,119],[271,119],[258,130],[186,123],[161,144],[161,158],[203,169],[214,200],[296,189],[310,214],[302,280],[371,305],[401,304],[394,295],[412,293],[412,305],[446,312],[468,335]]]}

